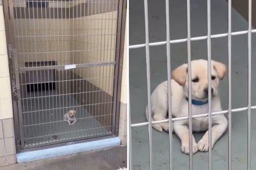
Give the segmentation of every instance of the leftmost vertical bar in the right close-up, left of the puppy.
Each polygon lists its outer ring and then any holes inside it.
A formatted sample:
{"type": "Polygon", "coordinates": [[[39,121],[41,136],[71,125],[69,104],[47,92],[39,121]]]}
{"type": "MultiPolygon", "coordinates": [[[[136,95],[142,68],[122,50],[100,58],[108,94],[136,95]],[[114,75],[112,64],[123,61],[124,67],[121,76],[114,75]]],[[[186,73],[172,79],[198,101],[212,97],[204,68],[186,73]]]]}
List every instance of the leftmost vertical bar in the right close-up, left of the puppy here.
{"type": "Polygon", "coordinates": [[[144,0],[145,37],[146,37],[146,78],[148,90],[148,142],[150,146],[150,170],[152,170],[152,115],[151,115],[151,92],[150,92],[150,46],[148,37],[148,0],[144,0]]]}

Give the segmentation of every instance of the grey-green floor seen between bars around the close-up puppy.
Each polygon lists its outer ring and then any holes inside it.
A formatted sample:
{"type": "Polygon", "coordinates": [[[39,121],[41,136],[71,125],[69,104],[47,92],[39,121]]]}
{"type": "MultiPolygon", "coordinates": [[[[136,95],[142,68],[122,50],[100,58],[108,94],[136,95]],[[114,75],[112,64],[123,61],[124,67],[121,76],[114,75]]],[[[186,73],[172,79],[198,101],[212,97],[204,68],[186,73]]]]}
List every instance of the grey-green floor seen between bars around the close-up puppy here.
{"type": "MultiPolygon", "coordinates": [[[[207,2],[191,1],[192,37],[207,35],[207,2]]],[[[144,43],[143,1],[130,1],[130,45],[144,43]]],[[[150,42],[166,40],[165,3],[148,1],[150,42]]],[[[232,31],[247,30],[246,22],[239,13],[232,11],[232,31]]],[[[170,37],[186,38],[186,1],[170,1],[170,37]]],[[[228,5],[224,0],[212,1],[212,34],[228,32],[228,5]]],[[[252,89],[256,85],[256,36],[252,35],[252,89]]],[[[248,42],[247,35],[232,37],[232,108],[247,106],[248,98],[248,42]]],[[[171,44],[172,70],[187,62],[186,42],[171,44]]],[[[207,41],[192,42],[192,60],[207,58],[207,41]]],[[[228,64],[228,38],[212,39],[212,58],[228,64]]],[[[146,108],[146,58],[144,48],[130,50],[130,101],[132,123],[145,122],[146,108]]],[[[166,46],[150,47],[151,90],[167,79],[166,46]]],[[[220,85],[222,108],[228,108],[228,78],[220,85]]],[[[256,92],[251,92],[252,105],[256,104],[256,92]]],[[[251,111],[251,150],[256,148],[256,111],[251,111]]],[[[247,112],[232,115],[232,158],[234,170],[247,166],[247,112]]],[[[199,141],[203,133],[194,133],[199,141]]],[[[169,169],[168,133],[153,130],[153,169],[169,169]]],[[[132,128],[133,170],[149,169],[148,127],[132,128]]],[[[174,169],[188,169],[188,155],[181,153],[181,142],[173,134],[174,169]]],[[[251,167],[256,167],[256,153],[251,153],[251,167]]],[[[196,153],[193,157],[194,169],[208,169],[208,153],[196,153]]],[[[228,133],[213,148],[213,169],[228,169],[228,133]]]]}

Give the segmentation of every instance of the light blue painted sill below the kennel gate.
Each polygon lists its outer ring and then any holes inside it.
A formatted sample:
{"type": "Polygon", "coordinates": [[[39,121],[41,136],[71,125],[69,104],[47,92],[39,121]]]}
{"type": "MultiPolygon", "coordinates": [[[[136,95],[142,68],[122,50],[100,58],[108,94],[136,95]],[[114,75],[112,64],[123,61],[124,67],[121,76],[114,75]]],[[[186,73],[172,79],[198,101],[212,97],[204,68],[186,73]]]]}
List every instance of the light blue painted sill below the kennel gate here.
{"type": "Polygon", "coordinates": [[[65,155],[72,155],[84,151],[93,151],[96,149],[110,148],[113,146],[120,146],[121,140],[119,137],[110,139],[95,140],[91,142],[84,142],[80,144],[72,144],[67,146],[59,146],[56,148],[41,149],[37,151],[27,151],[24,153],[17,153],[17,162],[30,162],[34,160],[42,160],[46,158],[61,157],[65,155]]]}

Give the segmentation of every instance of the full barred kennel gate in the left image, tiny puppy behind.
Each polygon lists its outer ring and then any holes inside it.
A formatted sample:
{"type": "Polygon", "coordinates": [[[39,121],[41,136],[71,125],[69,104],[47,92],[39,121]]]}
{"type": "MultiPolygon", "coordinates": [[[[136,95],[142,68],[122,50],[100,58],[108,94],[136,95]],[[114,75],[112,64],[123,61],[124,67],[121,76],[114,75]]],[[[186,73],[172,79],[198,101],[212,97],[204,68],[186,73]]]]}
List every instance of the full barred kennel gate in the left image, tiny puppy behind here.
{"type": "Polygon", "coordinates": [[[122,3],[3,3],[18,150],[114,135],[122,3]]]}

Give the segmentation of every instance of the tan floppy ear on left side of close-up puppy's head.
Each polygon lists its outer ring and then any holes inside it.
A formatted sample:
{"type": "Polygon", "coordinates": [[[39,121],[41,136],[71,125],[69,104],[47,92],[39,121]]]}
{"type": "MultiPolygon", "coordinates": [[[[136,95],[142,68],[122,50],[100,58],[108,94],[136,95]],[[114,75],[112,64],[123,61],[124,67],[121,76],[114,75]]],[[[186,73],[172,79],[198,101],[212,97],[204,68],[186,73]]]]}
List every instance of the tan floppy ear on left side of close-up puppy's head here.
{"type": "Polygon", "coordinates": [[[186,83],[186,74],[188,72],[188,65],[182,64],[181,66],[177,67],[172,72],[172,78],[175,80],[179,85],[183,86],[186,83]]]}

